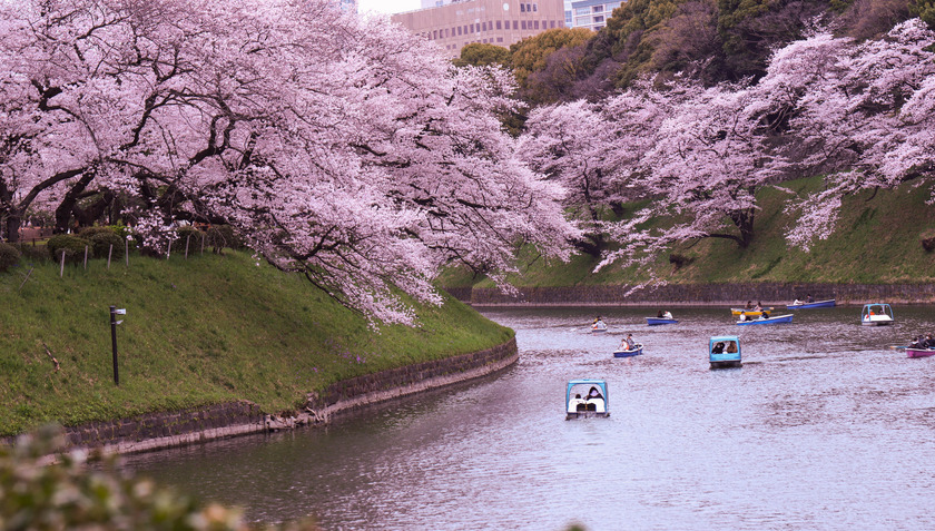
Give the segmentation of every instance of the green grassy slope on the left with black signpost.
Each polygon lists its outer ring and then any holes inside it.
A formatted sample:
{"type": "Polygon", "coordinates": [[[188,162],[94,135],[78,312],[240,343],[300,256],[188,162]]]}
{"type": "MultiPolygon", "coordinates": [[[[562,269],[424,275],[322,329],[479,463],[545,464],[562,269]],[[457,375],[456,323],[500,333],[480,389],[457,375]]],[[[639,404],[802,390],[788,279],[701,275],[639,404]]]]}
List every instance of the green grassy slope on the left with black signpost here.
{"type": "Polygon", "coordinates": [[[248,400],[291,410],[348,377],[474,352],[512,332],[456,301],[421,308],[420,328],[366,321],[306,281],[243,253],[132,256],[106,269],[51,263],[0,273],[0,435],[248,400]],[[22,287],[20,288],[20,285],[22,287]],[[109,306],[120,386],[111,368],[109,306]],[[55,371],[48,346],[60,370],[55,371]]]}

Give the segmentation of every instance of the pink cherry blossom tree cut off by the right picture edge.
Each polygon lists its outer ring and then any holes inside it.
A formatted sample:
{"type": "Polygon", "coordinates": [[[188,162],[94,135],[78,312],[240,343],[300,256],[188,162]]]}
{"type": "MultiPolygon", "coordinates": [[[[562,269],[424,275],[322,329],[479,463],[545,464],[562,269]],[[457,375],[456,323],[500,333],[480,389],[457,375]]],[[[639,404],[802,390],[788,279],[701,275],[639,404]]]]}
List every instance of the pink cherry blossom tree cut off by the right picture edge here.
{"type": "Polygon", "coordinates": [[[834,61],[804,90],[791,120],[806,147],[806,167],[828,178],[825,189],[789,206],[800,213],[787,234],[790,244],[807,249],[816,237],[830,235],[847,194],[932,178],[935,53],[926,48],[933,42],[935,32],[913,19],[884,39],[855,43],[817,36],[785,52],[795,56],[817,45],[824,52],[803,61],[813,67],[834,61]]]}

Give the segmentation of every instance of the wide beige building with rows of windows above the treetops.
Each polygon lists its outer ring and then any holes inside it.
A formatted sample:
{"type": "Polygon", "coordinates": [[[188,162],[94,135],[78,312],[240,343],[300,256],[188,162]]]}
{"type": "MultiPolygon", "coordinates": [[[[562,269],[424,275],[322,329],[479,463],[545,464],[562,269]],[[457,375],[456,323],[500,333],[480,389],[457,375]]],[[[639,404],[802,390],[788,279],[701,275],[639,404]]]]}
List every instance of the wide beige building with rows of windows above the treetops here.
{"type": "MultiPolygon", "coordinates": [[[[433,0],[445,1],[445,0],[433,0]]],[[[392,20],[435,41],[450,57],[472,42],[509,47],[553,28],[565,27],[563,0],[461,0],[397,13],[392,20]]]]}

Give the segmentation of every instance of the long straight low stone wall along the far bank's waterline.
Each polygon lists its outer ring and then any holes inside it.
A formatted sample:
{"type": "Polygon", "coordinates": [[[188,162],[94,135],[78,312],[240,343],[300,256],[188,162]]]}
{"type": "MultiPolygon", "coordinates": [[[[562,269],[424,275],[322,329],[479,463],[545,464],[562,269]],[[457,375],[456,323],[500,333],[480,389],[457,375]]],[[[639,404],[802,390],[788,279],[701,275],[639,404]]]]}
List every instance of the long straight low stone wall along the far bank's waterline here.
{"type": "Polygon", "coordinates": [[[708,306],[738,305],[761,301],[785,305],[811,294],[816,301],[836,298],[837,304],[862,305],[868,302],[890,304],[935,303],[935,284],[810,284],[810,283],[737,283],[737,284],[667,284],[633,289],[632,286],[522,287],[518,297],[496,288],[474,288],[473,306],[708,306]]]}

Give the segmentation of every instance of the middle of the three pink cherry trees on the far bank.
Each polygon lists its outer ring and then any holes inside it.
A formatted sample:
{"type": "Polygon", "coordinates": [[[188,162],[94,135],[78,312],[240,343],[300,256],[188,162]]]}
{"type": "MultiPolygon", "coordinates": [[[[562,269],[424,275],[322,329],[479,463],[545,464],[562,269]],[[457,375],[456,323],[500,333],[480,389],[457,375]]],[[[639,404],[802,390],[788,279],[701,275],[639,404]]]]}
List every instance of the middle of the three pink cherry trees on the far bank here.
{"type": "Polygon", "coordinates": [[[724,238],[747,247],[754,238],[757,193],[780,179],[783,157],[774,153],[765,124],[769,106],[749,86],[703,88],[683,83],[679,101],[662,119],[653,147],[642,160],[656,200],[622,225],[624,247],[601,266],[626,257],[652,256],[673,243],[724,238]],[[671,226],[638,229],[648,218],[671,226]],[[642,254],[640,253],[642,252],[642,254]]]}

